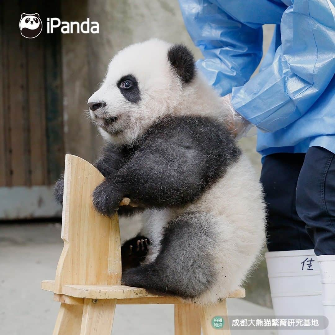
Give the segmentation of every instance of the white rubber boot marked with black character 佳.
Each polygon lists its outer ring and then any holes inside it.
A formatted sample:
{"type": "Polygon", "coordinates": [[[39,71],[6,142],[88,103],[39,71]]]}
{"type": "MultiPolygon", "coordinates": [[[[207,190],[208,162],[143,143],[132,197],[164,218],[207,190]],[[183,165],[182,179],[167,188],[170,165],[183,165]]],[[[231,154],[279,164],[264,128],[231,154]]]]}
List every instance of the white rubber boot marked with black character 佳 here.
{"type": "MultiPolygon", "coordinates": [[[[265,254],[276,316],[320,316],[322,287],[314,250],[276,251],[265,254]]],[[[279,330],[278,335],[306,335],[307,330],[279,330]]],[[[324,330],[313,330],[324,335],[324,330]]]]}

